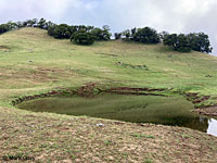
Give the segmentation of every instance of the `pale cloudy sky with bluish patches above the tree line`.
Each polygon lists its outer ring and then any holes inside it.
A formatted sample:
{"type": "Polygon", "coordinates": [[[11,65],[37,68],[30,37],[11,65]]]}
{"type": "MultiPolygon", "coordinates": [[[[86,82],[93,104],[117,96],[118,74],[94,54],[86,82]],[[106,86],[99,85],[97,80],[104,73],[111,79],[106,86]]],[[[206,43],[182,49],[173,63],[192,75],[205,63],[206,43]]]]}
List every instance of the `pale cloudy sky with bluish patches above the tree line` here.
{"type": "Polygon", "coordinates": [[[110,25],[112,32],[204,32],[217,54],[217,0],[0,0],[0,23],[44,17],[54,23],[110,25]]]}

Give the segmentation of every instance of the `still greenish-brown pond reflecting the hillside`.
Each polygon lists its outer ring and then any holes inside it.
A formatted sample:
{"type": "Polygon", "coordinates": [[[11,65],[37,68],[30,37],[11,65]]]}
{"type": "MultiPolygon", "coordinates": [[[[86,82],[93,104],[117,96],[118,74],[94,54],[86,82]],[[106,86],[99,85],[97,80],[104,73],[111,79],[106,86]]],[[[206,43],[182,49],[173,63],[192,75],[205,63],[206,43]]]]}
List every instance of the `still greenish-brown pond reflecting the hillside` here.
{"type": "Polygon", "coordinates": [[[26,101],[20,109],[68,115],[87,115],[133,123],[182,126],[217,136],[217,121],[191,112],[182,97],[99,95],[94,98],[52,97],[26,101]]]}

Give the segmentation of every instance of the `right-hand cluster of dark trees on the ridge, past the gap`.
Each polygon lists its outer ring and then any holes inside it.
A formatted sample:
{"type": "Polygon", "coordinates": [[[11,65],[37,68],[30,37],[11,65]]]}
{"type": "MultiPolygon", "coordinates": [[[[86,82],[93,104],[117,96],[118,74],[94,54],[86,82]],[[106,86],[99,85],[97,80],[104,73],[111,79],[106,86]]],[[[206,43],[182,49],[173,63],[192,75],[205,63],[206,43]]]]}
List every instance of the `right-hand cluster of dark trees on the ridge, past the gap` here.
{"type": "Polygon", "coordinates": [[[154,28],[132,28],[123,33],[115,33],[115,39],[132,40],[142,43],[159,43],[171,47],[175,51],[210,53],[213,48],[208,35],[204,33],[169,34],[167,32],[157,33],[154,28]]]}

